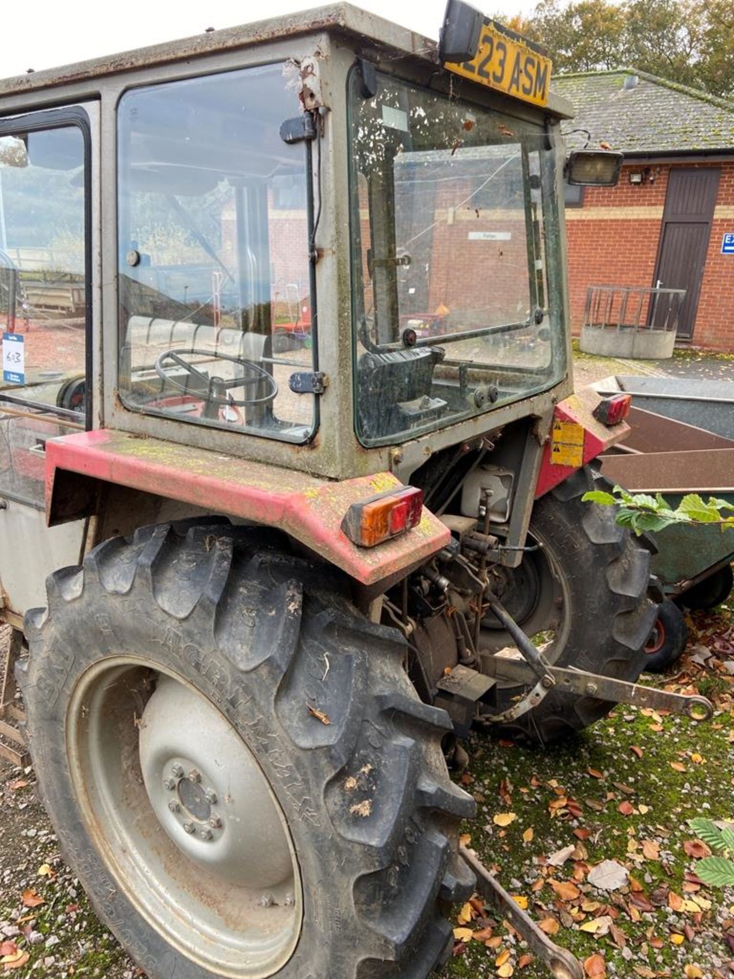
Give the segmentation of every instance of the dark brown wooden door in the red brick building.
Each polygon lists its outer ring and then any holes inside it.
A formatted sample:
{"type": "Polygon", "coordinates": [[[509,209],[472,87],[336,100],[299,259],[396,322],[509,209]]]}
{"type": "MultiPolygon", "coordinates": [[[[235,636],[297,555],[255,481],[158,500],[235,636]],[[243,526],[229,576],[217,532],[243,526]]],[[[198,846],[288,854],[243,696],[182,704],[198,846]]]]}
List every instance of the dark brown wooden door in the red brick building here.
{"type": "MultiPolygon", "coordinates": [[[[711,220],[716,204],[719,170],[715,167],[672,167],[667,182],[665,212],[653,285],[685,289],[678,320],[678,339],[691,340],[704,277],[711,220]]],[[[656,320],[666,303],[658,306],[656,320]]]]}

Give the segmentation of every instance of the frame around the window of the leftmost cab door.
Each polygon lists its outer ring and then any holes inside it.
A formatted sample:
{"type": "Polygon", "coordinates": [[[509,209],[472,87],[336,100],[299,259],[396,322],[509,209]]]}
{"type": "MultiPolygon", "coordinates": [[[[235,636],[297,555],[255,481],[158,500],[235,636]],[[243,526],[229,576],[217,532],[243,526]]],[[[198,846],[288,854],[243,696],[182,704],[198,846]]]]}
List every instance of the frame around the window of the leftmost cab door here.
{"type": "MultiPolygon", "coordinates": [[[[84,379],[85,406],[84,429],[92,428],[92,389],[94,356],[92,348],[92,300],[93,300],[93,201],[92,201],[92,123],[86,110],[81,106],[69,106],[58,109],[41,109],[37,112],[0,118],[0,136],[13,136],[21,132],[43,132],[51,129],[64,129],[75,126],[81,132],[84,147],[84,379]]],[[[4,392],[0,392],[0,403],[4,392]]],[[[11,397],[8,394],[8,397],[11,397]]],[[[54,414],[62,421],[69,422],[67,409],[58,404],[46,404],[44,401],[33,401],[27,397],[13,396],[8,403],[23,404],[31,408],[42,409],[47,414],[54,414]]],[[[73,412],[74,418],[78,417],[73,412]]]]}

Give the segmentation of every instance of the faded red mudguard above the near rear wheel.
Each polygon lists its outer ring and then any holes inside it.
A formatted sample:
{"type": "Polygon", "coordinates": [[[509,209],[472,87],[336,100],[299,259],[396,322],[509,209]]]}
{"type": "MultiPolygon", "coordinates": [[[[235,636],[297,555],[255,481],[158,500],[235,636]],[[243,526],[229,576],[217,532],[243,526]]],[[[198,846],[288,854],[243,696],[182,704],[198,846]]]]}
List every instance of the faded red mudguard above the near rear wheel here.
{"type": "Polygon", "coordinates": [[[363,584],[421,564],[450,540],[425,508],[418,527],[377,547],[357,547],[344,535],[341,524],[351,503],[402,486],[391,473],[338,483],[159,439],[105,429],[80,432],[46,443],[49,524],[58,470],[277,527],[363,584]]]}

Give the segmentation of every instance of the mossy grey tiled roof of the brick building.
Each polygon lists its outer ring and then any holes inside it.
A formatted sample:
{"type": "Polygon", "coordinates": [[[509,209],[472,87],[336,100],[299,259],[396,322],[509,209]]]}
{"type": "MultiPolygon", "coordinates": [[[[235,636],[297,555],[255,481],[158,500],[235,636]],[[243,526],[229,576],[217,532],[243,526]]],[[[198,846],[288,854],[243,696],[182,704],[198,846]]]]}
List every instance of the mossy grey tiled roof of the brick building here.
{"type": "Polygon", "coordinates": [[[627,154],[730,150],[734,152],[734,102],[658,78],[619,69],[554,76],[551,89],[573,103],[567,122],[627,154]],[[625,79],[637,83],[624,87],[625,79]]]}

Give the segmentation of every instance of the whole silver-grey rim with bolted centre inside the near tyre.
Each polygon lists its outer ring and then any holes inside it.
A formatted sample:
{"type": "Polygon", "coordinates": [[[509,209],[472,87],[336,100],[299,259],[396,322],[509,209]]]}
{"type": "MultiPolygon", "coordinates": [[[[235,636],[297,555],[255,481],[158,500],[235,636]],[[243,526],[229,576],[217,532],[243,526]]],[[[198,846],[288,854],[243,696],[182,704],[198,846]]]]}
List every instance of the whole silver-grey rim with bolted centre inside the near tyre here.
{"type": "Polygon", "coordinates": [[[281,969],[302,921],[295,847],[224,715],[182,677],[111,657],[74,689],[67,747],[90,837],[148,924],[215,975],[281,969]]]}

